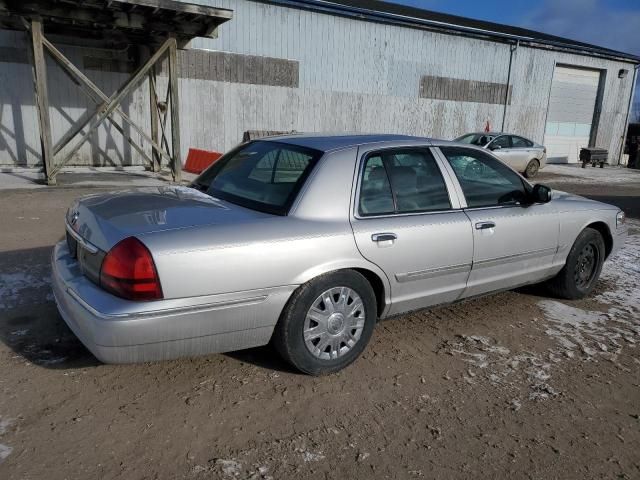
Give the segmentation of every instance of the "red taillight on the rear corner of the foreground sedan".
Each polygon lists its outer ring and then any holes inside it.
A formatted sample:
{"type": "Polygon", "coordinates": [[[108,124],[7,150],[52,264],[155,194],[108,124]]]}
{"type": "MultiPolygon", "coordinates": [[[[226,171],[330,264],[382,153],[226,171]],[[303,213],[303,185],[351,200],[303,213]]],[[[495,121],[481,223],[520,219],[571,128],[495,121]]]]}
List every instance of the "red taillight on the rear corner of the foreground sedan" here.
{"type": "Polygon", "coordinates": [[[102,261],[100,286],[129,300],[159,300],[162,288],[151,253],[134,237],[113,247],[102,261]]]}

